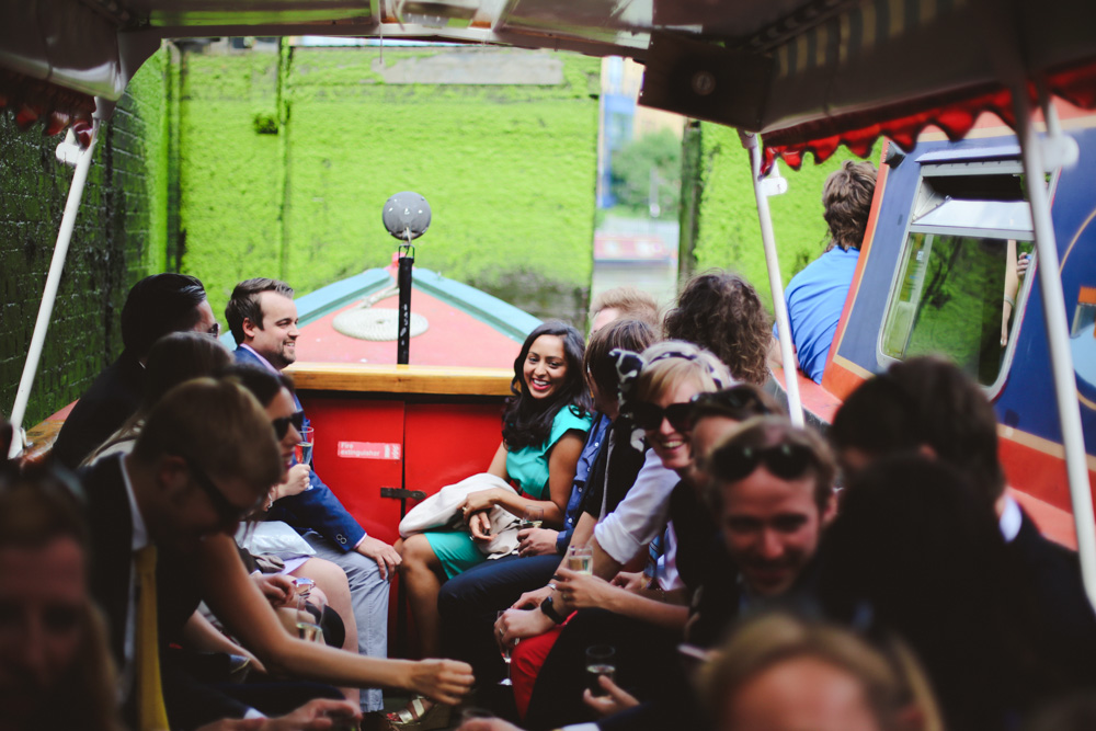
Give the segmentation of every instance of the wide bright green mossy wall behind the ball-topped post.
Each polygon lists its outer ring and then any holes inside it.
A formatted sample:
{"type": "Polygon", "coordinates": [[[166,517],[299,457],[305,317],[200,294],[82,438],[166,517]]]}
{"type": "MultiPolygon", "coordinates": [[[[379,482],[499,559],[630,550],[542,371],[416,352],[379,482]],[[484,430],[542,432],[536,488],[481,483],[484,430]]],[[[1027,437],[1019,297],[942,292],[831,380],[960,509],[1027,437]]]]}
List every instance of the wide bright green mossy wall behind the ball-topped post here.
{"type": "Polygon", "coordinates": [[[304,293],[387,265],[396,241],[381,207],[411,190],[433,210],[418,265],[540,317],[581,322],[598,73],[596,59],[513,49],[386,48],[383,59],[377,48],[186,54],[183,270],[202,277],[222,312],[250,276],[282,277],[304,293]],[[561,72],[552,83],[400,76],[439,56],[457,68],[520,60],[561,72]]]}

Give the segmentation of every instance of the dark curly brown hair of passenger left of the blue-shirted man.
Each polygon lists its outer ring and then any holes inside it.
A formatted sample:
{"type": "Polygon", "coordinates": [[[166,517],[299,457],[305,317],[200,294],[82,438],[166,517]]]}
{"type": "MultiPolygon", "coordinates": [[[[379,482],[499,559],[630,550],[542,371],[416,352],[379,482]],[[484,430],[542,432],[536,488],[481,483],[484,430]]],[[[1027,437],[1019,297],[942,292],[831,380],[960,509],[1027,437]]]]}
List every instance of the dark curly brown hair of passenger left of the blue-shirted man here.
{"type": "Polygon", "coordinates": [[[739,380],[761,385],[768,379],[772,325],[757,292],[738,274],[711,270],[689,279],[662,329],[666,340],[715,353],[739,380]]]}

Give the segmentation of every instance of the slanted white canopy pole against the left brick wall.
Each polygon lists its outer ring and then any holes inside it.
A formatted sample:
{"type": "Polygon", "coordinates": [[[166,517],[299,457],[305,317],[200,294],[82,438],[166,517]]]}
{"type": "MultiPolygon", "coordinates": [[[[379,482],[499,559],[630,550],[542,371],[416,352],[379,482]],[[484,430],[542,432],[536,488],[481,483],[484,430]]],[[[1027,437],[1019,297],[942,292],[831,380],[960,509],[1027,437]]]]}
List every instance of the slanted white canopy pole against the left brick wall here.
{"type": "Polygon", "coordinates": [[[57,243],[54,244],[54,259],[49,262],[46,287],[42,293],[42,304],[38,306],[38,319],[34,323],[31,347],[27,350],[26,362],[23,364],[23,376],[20,378],[19,389],[15,391],[15,404],[11,409],[11,425],[14,429],[14,434],[12,435],[11,448],[8,452],[8,457],[10,458],[19,456],[26,441],[23,433],[23,416],[26,415],[26,403],[31,398],[31,386],[34,384],[34,376],[38,372],[38,361],[42,359],[42,349],[46,342],[49,318],[54,312],[57,288],[61,282],[61,272],[65,270],[65,259],[68,256],[69,242],[72,240],[76,215],[80,209],[80,198],[83,197],[83,187],[88,182],[88,171],[91,169],[91,158],[95,150],[95,141],[99,139],[99,119],[92,122],[91,140],[88,142],[88,148],[83,150],[77,161],[76,173],[72,175],[72,183],[69,185],[68,199],[65,203],[65,214],[61,217],[61,227],[57,231],[57,243]]]}

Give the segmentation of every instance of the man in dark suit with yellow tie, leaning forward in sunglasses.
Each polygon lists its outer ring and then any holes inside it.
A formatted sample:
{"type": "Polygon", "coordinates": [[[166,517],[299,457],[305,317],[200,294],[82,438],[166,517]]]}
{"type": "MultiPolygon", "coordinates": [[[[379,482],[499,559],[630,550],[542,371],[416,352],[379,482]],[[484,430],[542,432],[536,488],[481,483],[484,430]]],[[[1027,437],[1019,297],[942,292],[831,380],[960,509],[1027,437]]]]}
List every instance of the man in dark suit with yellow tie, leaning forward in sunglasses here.
{"type": "MultiPolygon", "coordinates": [[[[90,586],[107,617],[126,715],[135,727],[160,726],[151,719],[164,716],[176,728],[262,716],[162,662],[162,650],[181,637],[204,595],[195,568],[201,566],[196,557],[203,545],[236,532],[270,484],[282,478],[282,465],[270,418],[254,398],[235,382],[202,379],[161,400],[132,455],[100,460],[81,472],[94,558],[90,586]],[[140,570],[150,551],[155,581],[140,570]],[[146,581],[155,586],[151,596],[145,591],[146,581]],[[140,618],[150,610],[152,605],[146,602],[152,597],[156,629],[150,632],[140,618]],[[156,648],[155,654],[150,648],[156,648]]],[[[247,584],[247,579],[240,581],[247,584]]],[[[244,603],[265,610],[270,616],[263,618],[276,623],[258,590],[246,589],[252,591],[244,603]]],[[[338,695],[333,688],[320,688],[323,693],[338,695]]],[[[309,695],[315,694],[306,692],[305,697],[309,695]]],[[[276,710],[271,704],[261,705],[282,713],[301,698],[288,692],[283,697],[293,700],[283,705],[274,698],[276,710]]],[[[344,703],[317,707],[357,713],[344,703]]]]}

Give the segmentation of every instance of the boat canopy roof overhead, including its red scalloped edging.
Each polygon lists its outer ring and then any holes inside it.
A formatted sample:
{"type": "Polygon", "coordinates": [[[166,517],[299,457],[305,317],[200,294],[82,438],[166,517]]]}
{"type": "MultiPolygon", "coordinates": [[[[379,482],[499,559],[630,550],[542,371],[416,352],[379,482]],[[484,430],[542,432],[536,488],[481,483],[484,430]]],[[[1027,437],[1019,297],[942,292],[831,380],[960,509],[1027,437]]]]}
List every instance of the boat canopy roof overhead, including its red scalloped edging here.
{"type": "Polygon", "coordinates": [[[647,65],[641,103],[762,133],[766,163],[912,147],[1038,84],[1096,106],[1092,0],[25,0],[0,8],[0,105],[91,118],[163,38],[328,35],[567,49],[647,65]]]}

